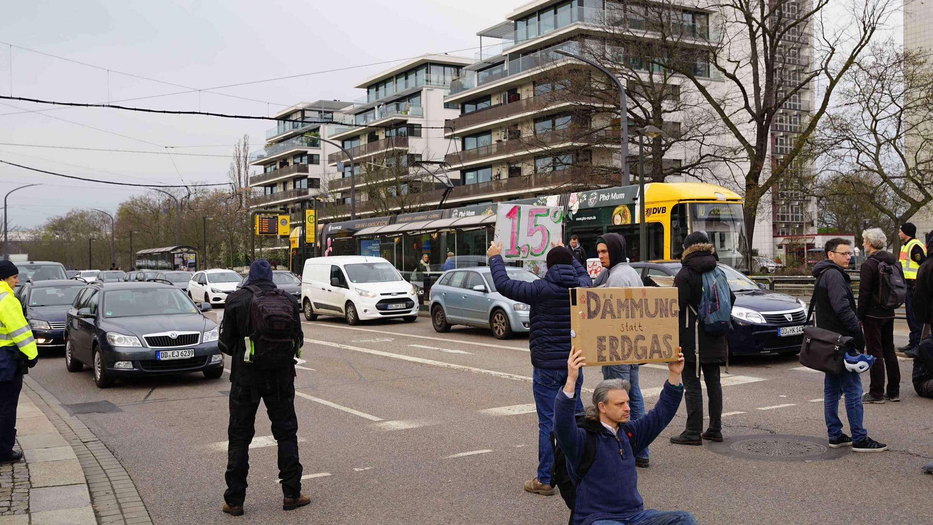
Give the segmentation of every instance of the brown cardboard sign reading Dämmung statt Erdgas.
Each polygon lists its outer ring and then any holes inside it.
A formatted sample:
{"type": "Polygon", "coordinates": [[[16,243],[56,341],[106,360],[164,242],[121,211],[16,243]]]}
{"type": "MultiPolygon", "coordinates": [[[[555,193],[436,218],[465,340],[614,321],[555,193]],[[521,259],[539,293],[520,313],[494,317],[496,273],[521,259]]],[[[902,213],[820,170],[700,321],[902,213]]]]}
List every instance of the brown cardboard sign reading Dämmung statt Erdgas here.
{"type": "Polygon", "coordinates": [[[677,361],[675,288],[575,288],[571,342],[587,366],[677,361]]]}

